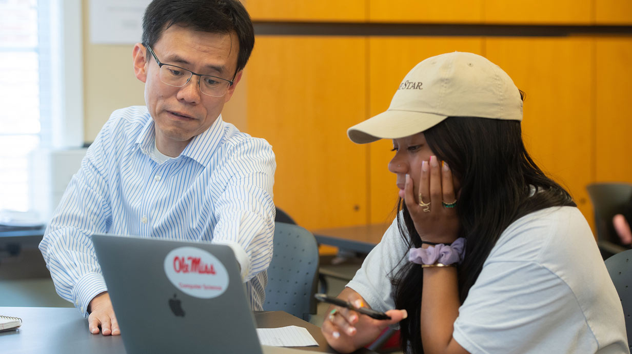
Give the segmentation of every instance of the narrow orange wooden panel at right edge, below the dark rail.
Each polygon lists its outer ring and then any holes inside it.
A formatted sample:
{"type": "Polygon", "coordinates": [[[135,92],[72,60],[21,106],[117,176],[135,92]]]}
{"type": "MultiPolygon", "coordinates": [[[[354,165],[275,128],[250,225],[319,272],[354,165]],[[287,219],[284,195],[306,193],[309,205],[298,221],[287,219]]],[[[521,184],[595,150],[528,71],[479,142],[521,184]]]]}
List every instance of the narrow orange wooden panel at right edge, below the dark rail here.
{"type": "Polygon", "coordinates": [[[595,181],[632,182],[632,37],[596,40],[595,181]]]}

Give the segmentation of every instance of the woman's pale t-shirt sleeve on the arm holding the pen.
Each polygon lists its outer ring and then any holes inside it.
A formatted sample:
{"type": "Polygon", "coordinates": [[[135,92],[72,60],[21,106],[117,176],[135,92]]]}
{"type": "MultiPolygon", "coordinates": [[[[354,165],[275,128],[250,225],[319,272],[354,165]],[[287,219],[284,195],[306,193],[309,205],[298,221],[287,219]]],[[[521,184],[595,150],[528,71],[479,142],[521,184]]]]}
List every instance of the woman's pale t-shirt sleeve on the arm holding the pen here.
{"type": "Polygon", "coordinates": [[[382,312],[392,310],[395,302],[391,278],[408,262],[407,251],[395,219],[347,286],[360,294],[371,308],[382,312]]]}

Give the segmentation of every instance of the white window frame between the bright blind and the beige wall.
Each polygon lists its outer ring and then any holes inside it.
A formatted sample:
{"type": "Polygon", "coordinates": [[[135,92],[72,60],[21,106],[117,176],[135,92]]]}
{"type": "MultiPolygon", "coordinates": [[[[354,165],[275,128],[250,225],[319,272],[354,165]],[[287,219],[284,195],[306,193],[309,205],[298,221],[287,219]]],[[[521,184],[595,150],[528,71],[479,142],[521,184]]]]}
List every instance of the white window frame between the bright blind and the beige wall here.
{"type": "MultiPolygon", "coordinates": [[[[82,0],[38,0],[38,11],[46,11],[46,18],[38,14],[37,46],[40,51],[40,131],[39,145],[27,158],[27,194],[24,203],[9,209],[40,212],[46,219],[54,201],[58,201],[58,189],[65,188],[70,176],[60,171],[73,164],[76,171],[76,151],[85,152],[83,110],[83,18],[82,0]],[[42,60],[42,51],[45,51],[42,60]],[[45,78],[42,78],[45,77],[45,78]],[[43,80],[43,81],[42,81],[43,80]],[[45,100],[45,101],[42,101],[45,100]],[[73,152],[73,153],[69,153],[73,152]],[[70,156],[66,158],[66,156],[70,156]],[[58,181],[59,180],[59,181],[58,181]],[[64,180],[64,181],[61,181],[64,180]],[[62,187],[58,185],[63,184],[62,187]]],[[[80,158],[81,156],[79,156],[80,158]]],[[[3,211],[0,211],[0,219],[3,211]]],[[[6,220],[4,220],[6,221],[6,220]]]]}

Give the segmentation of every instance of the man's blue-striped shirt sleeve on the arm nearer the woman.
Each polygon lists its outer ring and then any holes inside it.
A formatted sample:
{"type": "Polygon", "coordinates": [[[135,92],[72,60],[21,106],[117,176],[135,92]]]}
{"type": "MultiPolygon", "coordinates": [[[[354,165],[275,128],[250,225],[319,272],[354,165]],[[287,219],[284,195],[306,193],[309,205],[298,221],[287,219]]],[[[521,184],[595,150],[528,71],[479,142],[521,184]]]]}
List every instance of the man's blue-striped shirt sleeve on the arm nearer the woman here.
{"type": "Polygon", "coordinates": [[[272,260],[275,169],[272,148],[257,138],[238,143],[222,164],[228,185],[216,202],[212,242],[233,249],[243,281],[265,271],[272,260]]]}

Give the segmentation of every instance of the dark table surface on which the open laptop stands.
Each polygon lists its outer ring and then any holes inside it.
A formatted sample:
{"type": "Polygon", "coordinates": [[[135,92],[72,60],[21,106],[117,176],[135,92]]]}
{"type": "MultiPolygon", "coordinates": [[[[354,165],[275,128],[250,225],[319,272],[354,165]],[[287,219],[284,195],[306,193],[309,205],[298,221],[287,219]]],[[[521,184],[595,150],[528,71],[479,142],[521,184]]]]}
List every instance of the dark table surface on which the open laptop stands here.
{"type": "MultiPolygon", "coordinates": [[[[3,352],[9,350],[11,353],[125,353],[121,336],[88,333],[88,320],[83,319],[76,308],[0,307],[0,315],[22,319],[22,326],[17,331],[0,332],[0,348],[3,348],[3,352]]],[[[320,333],[320,327],[287,312],[255,312],[255,320],[259,328],[292,325],[305,327],[319,346],[297,349],[335,353],[320,333]]],[[[356,353],[374,352],[358,350],[356,353]]]]}

